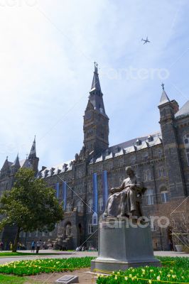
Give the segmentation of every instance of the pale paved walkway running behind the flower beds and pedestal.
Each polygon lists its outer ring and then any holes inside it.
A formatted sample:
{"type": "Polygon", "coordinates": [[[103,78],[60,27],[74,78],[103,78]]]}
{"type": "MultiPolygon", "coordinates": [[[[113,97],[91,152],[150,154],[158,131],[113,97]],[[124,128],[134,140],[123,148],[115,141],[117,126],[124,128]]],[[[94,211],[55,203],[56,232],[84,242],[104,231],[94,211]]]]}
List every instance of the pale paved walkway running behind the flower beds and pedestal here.
{"type": "MultiPolygon", "coordinates": [[[[3,251],[4,252],[4,251],[3,251]]],[[[30,253],[31,251],[18,251],[22,253],[30,253]]],[[[83,256],[97,256],[97,251],[53,251],[53,250],[41,250],[41,253],[56,253],[50,256],[6,256],[1,257],[0,252],[0,264],[11,261],[33,260],[36,258],[70,258],[70,257],[83,257],[83,256]]],[[[178,253],[176,251],[154,251],[155,256],[185,256],[189,257],[188,253],[178,253]]]]}

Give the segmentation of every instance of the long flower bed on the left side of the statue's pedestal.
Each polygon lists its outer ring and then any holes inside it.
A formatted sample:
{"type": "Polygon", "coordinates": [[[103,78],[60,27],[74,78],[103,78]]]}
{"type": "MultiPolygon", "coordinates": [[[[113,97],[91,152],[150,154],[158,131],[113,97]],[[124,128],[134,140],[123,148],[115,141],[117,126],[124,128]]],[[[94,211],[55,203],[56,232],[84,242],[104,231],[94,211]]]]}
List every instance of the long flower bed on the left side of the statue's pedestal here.
{"type": "Polygon", "coordinates": [[[73,271],[77,268],[90,267],[92,257],[83,258],[51,258],[33,261],[12,261],[0,266],[0,273],[15,275],[35,275],[60,271],[73,271]]]}

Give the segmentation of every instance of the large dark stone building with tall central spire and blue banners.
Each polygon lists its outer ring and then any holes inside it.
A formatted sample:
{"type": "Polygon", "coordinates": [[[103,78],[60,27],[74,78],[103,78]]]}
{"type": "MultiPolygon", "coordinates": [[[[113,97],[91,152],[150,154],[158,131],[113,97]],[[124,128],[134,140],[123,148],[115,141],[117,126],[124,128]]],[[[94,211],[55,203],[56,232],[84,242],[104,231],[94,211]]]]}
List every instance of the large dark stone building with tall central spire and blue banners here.
{"type": "MultiPolygon", "coordinates": [[[[167,207],[171,200],[182,200],[189,192],[189,102],[179,110],[164,87],[158,105],[161,130],[148,136],[109,147],[109,118],[104,109],[97,65],[84,115],[84,142],[80,153],[72,160],[43,167],[37,178],[44,178],[63,202],[65,217],[52,232],[23,232],[21,240],[28,246],[32,239],[56,241],[65,249],[97,247],[97,222],[111,187],[125,178],[125,167],[131,165],[147,188],[143,197],[146,216],[152,216],[158,204],[167,207]]],[[[1,169],[0,189],[10,189],[13,174],[24,165],[37,172],[36,141],[24,163],[18,157],[7,159],[1,169]]],[[[168,231],[153,226],[154,249],[168,249],[168,231]]],[[[4,232],[4,235],[6,231],[4,232]]],[[[5,236],[4,236],[5,238],[5,236]]],[[[6,237],[6,239],[9,239],[6,237]]]]}

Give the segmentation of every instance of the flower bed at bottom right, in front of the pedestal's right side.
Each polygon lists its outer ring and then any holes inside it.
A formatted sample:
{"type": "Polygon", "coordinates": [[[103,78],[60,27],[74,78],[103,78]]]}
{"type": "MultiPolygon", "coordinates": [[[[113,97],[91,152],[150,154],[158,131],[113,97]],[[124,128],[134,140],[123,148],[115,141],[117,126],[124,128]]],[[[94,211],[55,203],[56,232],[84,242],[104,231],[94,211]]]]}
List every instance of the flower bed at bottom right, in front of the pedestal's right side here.
{"type": "Polygon", "coordinates": [[[189,283],[189,258],[158,257],[162,267],[145,266],[113,272],[112,275],[98,275],[97,284],[114,283],[189,283]]]}

